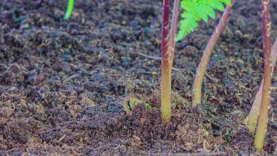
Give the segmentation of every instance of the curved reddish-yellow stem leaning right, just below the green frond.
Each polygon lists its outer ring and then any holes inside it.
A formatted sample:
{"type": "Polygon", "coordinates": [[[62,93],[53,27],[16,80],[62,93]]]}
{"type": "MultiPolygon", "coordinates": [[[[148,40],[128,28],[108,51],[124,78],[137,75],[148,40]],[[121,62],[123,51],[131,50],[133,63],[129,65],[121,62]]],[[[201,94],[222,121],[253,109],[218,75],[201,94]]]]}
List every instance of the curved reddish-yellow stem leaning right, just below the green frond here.
{"type": "Polygon", "coordinates": [[[201,103],[201,90],[202,90],[202,83],[204,79],[204,75],[206,72],[206,68],[208,65],[208,62],[211,57],[212,50],[216,44],[216,42],[219,40],[219,37],[227,23],[228,17],[230,16],[232,6],[234,4],[235,0],[232,0],[231,6],[227,6],[225,8],[225,11],[220,18],[219,24],[216,26],[215,31],[213,32],[212,36],[210,37],[210,40],[205,48],[205,51],[203,53],[203,56],[201,58],[201,62],[197,68],[197,73],[195,75],[194,84],[193,84],[193,106],[196,107],[197,104],[201,103]]]}

